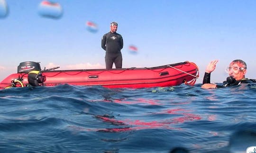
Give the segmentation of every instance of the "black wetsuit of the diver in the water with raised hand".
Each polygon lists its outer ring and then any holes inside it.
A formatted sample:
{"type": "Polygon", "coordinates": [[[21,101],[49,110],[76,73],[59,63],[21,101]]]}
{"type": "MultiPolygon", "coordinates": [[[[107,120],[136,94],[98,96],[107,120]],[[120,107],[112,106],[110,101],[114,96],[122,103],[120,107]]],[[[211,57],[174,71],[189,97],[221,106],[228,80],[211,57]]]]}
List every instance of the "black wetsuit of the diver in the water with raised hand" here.
{"type": "MultiPolygon", "coordinates": [[[[224,88],[229,86],[235,86],[240,83],[255,83],[255,79],[247,79],[243,78],[242,80],[236,81],[235,79],[230,79],[230,77],[227,78],[227,81],[223,81],[223,85],[216,85],[216,88],[224,88]],[[229,78],[229,79],[228,79],[229,78]]],[[[210,73],[205,72],[203,77],[203,83],[210,83],[210,73]]]]}

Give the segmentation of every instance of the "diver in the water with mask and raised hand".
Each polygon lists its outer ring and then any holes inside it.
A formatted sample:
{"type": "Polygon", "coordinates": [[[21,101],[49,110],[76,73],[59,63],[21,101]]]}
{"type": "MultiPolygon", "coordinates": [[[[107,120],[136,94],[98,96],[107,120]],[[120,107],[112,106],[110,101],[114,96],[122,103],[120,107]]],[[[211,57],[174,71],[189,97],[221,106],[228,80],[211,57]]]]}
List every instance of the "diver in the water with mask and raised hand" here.
{"type": "Polygon", "coordinates": [[[247,71],[247,65],[242,60],[234,60],[229,64],[229,67],[226,69],[226,72],[229,73],[229,77],[227,77],[227,81],[223,82],[223,85],[216,85],[210,83],[210,73],[215,70],[216,64],[218,60],[211,61],[205,70],[203,77],[203,85],[201,88],[209,89],[209,88],[223,88],[227,86],[234,86],[240,83],[252,83],[256,82],[255,79],[247,79],[245,78],[245,74],[247,71]]]}

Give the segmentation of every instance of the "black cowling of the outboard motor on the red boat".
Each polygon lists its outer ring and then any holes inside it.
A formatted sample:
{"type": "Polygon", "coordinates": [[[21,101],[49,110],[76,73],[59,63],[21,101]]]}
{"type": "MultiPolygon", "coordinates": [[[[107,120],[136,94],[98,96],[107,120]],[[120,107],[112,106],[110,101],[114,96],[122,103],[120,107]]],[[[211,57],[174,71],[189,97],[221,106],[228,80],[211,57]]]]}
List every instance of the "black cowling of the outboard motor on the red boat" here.
{"type": "Polygon", "coordinates": [[[18,65],[18,73],[21,72],[31,72],[31,71],[41,71],[41,66],[38,62],[22,62],[18,65]]]}

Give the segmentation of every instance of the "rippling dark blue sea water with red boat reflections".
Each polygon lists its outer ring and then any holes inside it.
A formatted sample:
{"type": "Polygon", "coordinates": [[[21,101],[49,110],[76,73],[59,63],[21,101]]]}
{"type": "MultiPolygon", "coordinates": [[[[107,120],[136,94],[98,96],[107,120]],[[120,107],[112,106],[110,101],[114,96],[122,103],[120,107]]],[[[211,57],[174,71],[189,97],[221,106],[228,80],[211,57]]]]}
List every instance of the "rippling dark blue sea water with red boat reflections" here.
{"type": "Polygon", "coordinates": [[[256,84],[0,90],[1,153],[246,153],[256,84]]]}

